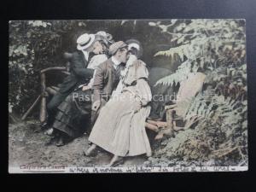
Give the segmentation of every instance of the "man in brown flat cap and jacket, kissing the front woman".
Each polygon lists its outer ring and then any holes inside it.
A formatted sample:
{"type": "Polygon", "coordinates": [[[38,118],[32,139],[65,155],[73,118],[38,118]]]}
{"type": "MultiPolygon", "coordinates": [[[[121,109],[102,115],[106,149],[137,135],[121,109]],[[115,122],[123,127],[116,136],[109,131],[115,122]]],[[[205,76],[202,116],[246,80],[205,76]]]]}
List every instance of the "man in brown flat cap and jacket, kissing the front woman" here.
{"type": "Polygon", "coordinates": [[[127,44],[123,41],[116,42],[109,47],[112,55],[96,69],[96,76],[92,86],[92,112],[91,122],[96,121],[100,109],[108,102],[113,90],[119,83],[120,71],[127,61],[127,44]]]}

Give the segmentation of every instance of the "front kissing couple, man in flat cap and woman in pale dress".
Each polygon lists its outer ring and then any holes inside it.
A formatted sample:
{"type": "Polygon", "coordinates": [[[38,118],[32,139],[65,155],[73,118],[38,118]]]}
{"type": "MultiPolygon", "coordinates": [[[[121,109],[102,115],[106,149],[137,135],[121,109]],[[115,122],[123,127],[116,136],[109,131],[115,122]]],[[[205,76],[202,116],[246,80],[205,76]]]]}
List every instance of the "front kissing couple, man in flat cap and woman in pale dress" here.
{"type": "Polygon", "coordinates": [[[115,166],[125,156],[151,155],[145,130],[150,113],[151,91],[148,69],[139,60],[141,44],[134,39],[110,46],[112,55],[96,69],[92,86],[92,113],[98,116],[90,132],[90,155],[96,147],[113,154],[108,166],[115,166]],[[125,67],[121,66],[125,63],[125,67]]]}

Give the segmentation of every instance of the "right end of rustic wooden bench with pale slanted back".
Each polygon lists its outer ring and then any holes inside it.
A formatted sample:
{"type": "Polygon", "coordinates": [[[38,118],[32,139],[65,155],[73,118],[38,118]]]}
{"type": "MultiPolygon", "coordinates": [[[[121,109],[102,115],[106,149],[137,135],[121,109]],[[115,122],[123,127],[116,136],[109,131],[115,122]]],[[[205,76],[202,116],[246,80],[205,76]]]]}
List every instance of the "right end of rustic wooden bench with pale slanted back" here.
{"type": "Polygon", "coordinates": [[[188,79],[180,83],[177,91],[177,99],[172,101],[171,105],[167,105],[166,122],[148,119],[146,127],[149,130],[157,132],[154,139],[158,140],[166,136],[172,136],[174,131],[188,129],[195,124],[201,117],[193,116],[191,119],[184,119],[189,109],[192,99],[201,91],[206,75],[204,73],[190,73],[188,79]],[[177,121],[181,121],[183,126],[177,126],[177,121]]]}

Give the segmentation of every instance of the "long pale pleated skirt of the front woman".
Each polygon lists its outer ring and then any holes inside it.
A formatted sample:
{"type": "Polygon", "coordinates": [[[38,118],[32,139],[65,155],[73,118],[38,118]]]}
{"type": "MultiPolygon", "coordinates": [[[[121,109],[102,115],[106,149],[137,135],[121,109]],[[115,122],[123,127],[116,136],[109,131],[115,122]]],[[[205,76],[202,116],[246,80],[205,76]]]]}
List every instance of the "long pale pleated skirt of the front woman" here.
{"type": "Polygon", "coordinates": [[[92,128],[89,141],[118,156],[151,155],[151,148],[145,130],[145,120],[150,107],[134,113],[136,100],[131,93],[122,94],[126,100],[110,99],[102,108],[92,128]]]}

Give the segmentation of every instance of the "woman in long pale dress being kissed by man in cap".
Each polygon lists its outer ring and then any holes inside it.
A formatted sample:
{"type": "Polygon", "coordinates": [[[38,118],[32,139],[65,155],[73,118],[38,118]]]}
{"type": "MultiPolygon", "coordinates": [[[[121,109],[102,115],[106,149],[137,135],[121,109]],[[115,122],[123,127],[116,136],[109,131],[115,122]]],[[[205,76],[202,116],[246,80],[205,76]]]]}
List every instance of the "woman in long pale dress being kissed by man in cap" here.
{"type": "Polygon", "coordinates": [[[93,143],[85,152],[99,146],[111,154],[113,159],[108,166],[114,166],[122,157],[139,154],[151,155],[151,148],[145,130],[145,120],[150,113],[148,102],[151,91],[148,85],[146,64],[137,59],[142,48],[137,40],[126,42],[131,53],[123,77],[112,98],[102,108],[90,132],[93,143]]]}

